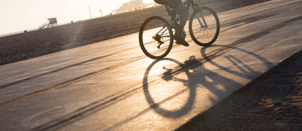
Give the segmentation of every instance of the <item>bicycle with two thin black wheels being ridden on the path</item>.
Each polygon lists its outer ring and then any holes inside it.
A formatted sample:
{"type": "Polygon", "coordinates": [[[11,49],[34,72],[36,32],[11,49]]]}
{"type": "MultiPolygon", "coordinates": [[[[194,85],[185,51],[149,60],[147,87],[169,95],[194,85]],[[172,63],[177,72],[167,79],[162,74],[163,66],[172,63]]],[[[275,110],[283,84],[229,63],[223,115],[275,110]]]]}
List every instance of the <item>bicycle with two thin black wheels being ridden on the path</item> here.
{"type": "MultiPolygon", "coordinates": [[[[191,7],[194,10],[189,19],[189,34],[192,40],[200,46],[213,44],[220,31],[220,23],[216,12],[209,7],[199,7],[193,0],[186,0],[184,4],[188,9],[192,5],[191,7]]],[[[166,5],[165,7],[171,17],[170,23],[162,17],[152,16],[146,19],[140,28],[140,47],[144,54],[151,59],[162,59],[169,54],[174,40],[172,29],[175,30],[175,27],[179,26],[179,12],[166,5]]],[[[182,32],[182,37],[186,38],[185,30],[182,32]]]]}

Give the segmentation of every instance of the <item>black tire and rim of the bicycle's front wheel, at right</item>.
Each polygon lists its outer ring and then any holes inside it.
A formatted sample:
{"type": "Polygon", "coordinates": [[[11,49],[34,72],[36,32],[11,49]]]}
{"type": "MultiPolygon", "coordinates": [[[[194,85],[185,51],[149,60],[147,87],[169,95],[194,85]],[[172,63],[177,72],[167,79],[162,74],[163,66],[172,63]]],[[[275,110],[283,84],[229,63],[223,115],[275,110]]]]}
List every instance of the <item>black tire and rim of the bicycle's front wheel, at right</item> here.
{"type": "MultiPolygon", "coordinates": [[[[202,20],[201,20],[201,21],[202,21],[202,20]]],[[[210,23],[210,22],[207,21],[207,20],[206,20],[206,22],[207,22],[207,25],[208,25],[208,26],[212,24],[212,23],[210,23]]],[[[202,23],[203,23],[203,22],[202,22],[202,23]]],[[[198,24],[199,24],[199,22],[198,22],[198,24]]],[[[199,24],[199,25],[200,25],[200,24],[199,24]]],[[[203,25],[204,25],[204,23],[203,23],[203,25]]],[[[212,25],[211,25],[211,26],[212,26],[212,25]]],[[[200,34],[201,32],[203,32],[203,33],[207,33],[207,35],[208,35],[208,34],[211,35],[212,33],[208,33],[208,31],[211,32],[211,31],[213,31],[213,30],[210,30],[209,27],[207,27],[207,28],[202,28],[202,27],[200,27],[200,32],[199,32],[199,34],[200,34]],[[203,29],[203,31],[201,31],[201,29],[203,29]]],[[[213,43],[216,41],[216,39],[218,38],[219,32],[220,32],[220,22],[219,22],[219,18],[218,18],[218,16],[217,16],[216,12],[215,12],[213,9],[211,9],[211,8],[209,8],[209,7],[200,7],[200,10],[196,10],[196,11],[194,11],[194,12],[192,13],[192,15],[191,15],[191,17],[190,17],[190,20],[189,20],[189,33],[190,33],[190,36],[191,36],[192,40],[193,40],[196,44],[198,44],[198,45],[200,45],[200,46],[208,46],[208,45],[213,44],[213,43]],[[201,36],[197,36],[197,38],[196,38],[196,36],[195,36],[195,34],[194,34],[194,32],[193,32],[193,29],[192,29],[192,26],[193,26],[192,23],[193,23],[194,17],[195,17],[196,15],[198,15],[200,11],[202,11],[203,13],[204,13],[204,12],[210,13],[209,15],[204,16],[205,20],[206,20],[206,17],[207,17],[207,18],[214,17],[214,19],[215,19],[215,24],[213,24],[213,26],[216,25],[216,26],[215,26],[215,27],[216,27],[215,33],[213,33],[213,34],[215,34],[215,35],[213,35],[213,37],[210,36],[210,38],[208,38],[207,41],[202,41],[202,38],[203,38],[203,37],[201,37],[201,36]],[[201,38],[201,39],[198,40],[198,38],[201,38]]],[[[196,33],[196,32],[195,32],[195,33],[196,33]]],[[[204,34],[203,34],[203,35],[204,35],[204,34]]]]}

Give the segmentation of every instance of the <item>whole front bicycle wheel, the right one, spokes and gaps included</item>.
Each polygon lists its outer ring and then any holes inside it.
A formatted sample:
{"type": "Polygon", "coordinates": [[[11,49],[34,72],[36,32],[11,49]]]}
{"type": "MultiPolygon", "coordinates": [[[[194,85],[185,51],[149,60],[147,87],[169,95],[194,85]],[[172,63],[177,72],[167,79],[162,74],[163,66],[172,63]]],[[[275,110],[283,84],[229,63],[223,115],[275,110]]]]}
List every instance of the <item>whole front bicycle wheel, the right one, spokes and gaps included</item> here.
{"type": "Polygon", "coordinates": [[[215,11],[201,7],[194,11],[189,20],[189,33],[192,40],[200,46],[213,44],[219,34],[220,23],[215,11]]]}

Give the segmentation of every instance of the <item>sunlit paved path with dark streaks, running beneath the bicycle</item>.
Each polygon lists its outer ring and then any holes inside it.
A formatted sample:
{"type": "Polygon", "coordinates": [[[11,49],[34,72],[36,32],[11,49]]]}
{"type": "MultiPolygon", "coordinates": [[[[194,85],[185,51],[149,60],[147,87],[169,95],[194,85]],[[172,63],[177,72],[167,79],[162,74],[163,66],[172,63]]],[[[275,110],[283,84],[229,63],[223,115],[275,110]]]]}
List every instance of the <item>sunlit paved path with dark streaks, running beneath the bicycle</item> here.
{"type": "Polygon", "coordinates": [[[0,66],[2,130],[175,130],[302,49],[302,0],[218,14],[208,47],[154,61],[138,33],[0,66]]]}

